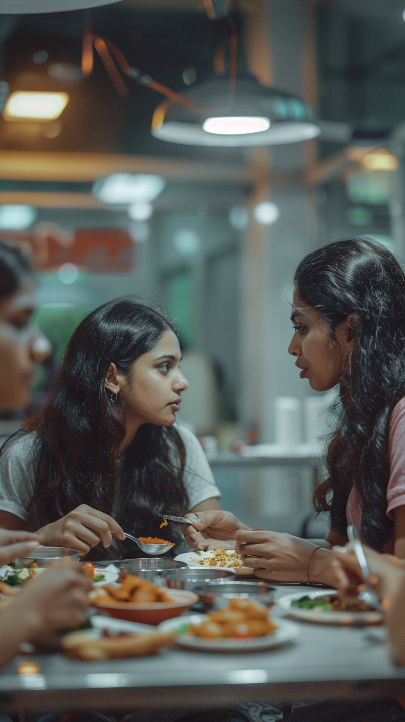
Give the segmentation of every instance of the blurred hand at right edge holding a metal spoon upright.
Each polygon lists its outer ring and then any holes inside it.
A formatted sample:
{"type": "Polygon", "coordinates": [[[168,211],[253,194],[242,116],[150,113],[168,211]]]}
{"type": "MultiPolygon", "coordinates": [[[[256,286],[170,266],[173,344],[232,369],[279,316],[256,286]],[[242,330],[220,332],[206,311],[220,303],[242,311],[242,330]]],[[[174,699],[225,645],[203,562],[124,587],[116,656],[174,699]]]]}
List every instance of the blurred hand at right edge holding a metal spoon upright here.
{"type": "MultiPolygon", "coordinates": [[[[398,586],[405,577],[403,560],[391,554],[378,554],[362,544],[370,570],[370,584],[380,599],[391,600],[398,592],[398,586]]],[[[335,585],[341,596],[357,596],[357,587],[364,583],[364,577],[350,544],[333,547],[333,572],[335,585]]]]}

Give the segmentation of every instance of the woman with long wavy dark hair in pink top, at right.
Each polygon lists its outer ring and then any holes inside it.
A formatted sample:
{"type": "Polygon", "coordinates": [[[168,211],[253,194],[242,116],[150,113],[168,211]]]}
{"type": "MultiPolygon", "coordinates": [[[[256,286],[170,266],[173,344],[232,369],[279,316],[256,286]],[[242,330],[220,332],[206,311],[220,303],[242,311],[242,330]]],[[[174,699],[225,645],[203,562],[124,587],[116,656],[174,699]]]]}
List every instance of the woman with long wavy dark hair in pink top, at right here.
{"type": "Polygon", "coordinates": [[[291,321],[300,378],[315,391],[339,385],[327,473],[314,492],[317,511],[331,516],[328,537],[252,531],[226,512],[197,514],[185,534],[203,549],[236,532],[236,551],[258,577],[333,585],[331,547],[346,543],[351,523],[372,549],[405,558],[404,271],[372,240],[325,245],[294,274],[291,321]]]}

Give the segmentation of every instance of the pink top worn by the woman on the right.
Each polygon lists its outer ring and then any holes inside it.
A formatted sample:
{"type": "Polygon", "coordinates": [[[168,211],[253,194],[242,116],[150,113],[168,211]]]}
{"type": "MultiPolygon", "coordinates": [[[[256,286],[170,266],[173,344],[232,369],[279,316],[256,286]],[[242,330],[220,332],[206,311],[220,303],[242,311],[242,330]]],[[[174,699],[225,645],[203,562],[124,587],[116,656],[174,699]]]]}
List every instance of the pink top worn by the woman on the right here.
{"type": "MultiPolygon", "coordinates": [[[[388,456],[390,458],[390,479],[387,488],[387,516],[393,519],[393,510],[405,505],[405,396],[393,407],[388,437],[388,456]]],[[[362,526],[362,507],[360,495],[355,487],[350,492],[346,505],[347,524],[362,526]]],[[[385,554],[393,554],[393,534],[384,544],[385,554]]]]}

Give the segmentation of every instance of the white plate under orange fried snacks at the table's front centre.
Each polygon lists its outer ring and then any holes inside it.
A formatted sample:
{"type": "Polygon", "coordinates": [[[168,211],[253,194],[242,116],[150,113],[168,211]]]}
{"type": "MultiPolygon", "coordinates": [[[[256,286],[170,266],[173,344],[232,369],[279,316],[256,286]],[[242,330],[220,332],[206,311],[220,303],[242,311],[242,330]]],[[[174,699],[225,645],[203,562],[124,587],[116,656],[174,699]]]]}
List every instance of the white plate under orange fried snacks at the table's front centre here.
{"type": "MultiPolygon", "coordinates": [[[[189,614],[184,617],[175,617],[174,619],[166,619],[161,622],[158,629],[161,632],[175,632],[181,630],[187,624],[199,624],[205,619],[209,619],[206,614],[189,614]]],[[[265,637],[253,637],[251,639],[202,639],[194,637],[185,632],[179,634],[176,643],[180,647],[193,649],[200,652],[260,652],[264,649],[271,649],[285,644],[299,635],[301,631],[295,622],[289,622],[288,619],[274,619],[277,625],[276,632],[265,635],[265,637]]]]}

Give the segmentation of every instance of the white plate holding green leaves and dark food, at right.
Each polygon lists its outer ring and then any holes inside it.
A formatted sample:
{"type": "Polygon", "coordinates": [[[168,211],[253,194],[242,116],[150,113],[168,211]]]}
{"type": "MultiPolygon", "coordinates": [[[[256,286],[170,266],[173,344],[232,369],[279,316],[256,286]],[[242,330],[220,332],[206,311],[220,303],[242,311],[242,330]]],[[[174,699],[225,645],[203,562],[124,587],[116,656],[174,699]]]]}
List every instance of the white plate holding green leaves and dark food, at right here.
{"type": "Polygon", "coordinates": [[[286,594],[277,600],[278,606],[285,612],[289,612],[291,617],[304,619],[305,622],[318,622],[324,625],[377,625],[383,622],[383,614],[381,612],[320,612],[315,609],[299,609],[297,606],[291,606],[291,602],[295,599],[301,599],[302,596],[324,596],[328,594],[337,594],[336,589],[313,589],[311,591],[299,591],[294,594],[286,594]]]}

